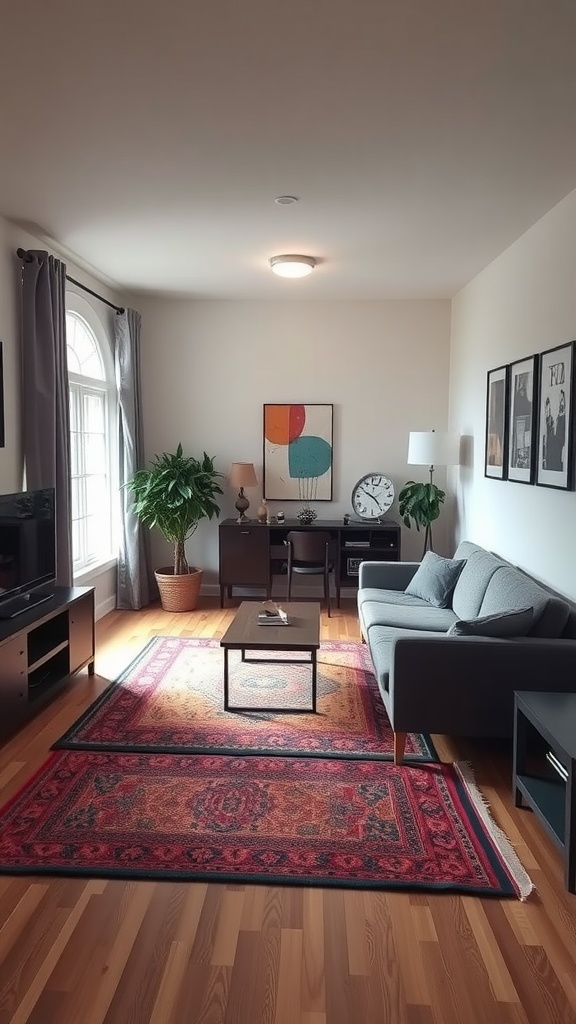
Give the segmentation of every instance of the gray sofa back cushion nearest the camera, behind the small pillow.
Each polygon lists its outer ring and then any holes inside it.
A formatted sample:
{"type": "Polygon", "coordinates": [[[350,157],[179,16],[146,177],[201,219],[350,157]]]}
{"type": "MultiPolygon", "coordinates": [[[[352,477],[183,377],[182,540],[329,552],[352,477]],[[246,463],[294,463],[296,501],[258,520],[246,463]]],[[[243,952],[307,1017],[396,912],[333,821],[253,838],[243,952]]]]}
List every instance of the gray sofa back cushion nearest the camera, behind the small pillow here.
{"type": "Polygon", "coordinates": [[[534,609],[534,621],[529,636],[559,637],[568,620],[568,602],[552,597],[512,565],[502,565],[486,588],[480,614],[493,615],[530,605],[534,609]]]}

